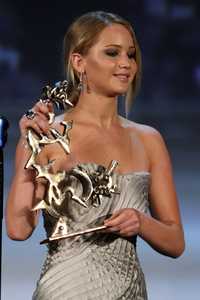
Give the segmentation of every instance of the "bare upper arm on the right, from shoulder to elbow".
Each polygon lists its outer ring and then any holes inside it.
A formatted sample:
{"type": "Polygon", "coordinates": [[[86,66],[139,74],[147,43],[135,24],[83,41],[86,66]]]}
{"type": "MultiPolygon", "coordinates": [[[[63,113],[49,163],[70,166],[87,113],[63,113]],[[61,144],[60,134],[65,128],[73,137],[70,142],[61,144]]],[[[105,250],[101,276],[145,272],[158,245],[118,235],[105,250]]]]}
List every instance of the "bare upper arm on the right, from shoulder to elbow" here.
{"type": "Polygon", "coordinates": [[[181,224],[178,199],[173,180],[169,152],[161,134],[150,128],[145,134],[145,145],[150,160],[150,210],[153,217],[181,224]]]}

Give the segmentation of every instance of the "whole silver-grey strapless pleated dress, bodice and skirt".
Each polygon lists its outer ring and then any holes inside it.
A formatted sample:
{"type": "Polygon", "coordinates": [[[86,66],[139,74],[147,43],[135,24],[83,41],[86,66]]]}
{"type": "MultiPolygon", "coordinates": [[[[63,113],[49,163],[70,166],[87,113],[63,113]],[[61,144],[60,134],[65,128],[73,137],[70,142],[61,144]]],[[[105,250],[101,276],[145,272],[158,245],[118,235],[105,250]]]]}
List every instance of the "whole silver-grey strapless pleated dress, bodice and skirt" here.
{"type": "MultiPolygon", "coordinates": [[[[81,164],[93,172],[95,163],[81,164]]],[[[113,176],[120,194],[103,197],[99,207],[85,208],[71,202],[72,231],[103,220],[122,208],[148,210],[150,174],[132,172],[113,176]]],[[[77,190],[80,186],[77,183],[77,190]]],[[[49,236],[56,220],[44,212],[44,226],[49,236]]],[[[146,300],[144,274],[137,253],[136,237],[96,232],[51,242],[33,300],[146,300]]]]}

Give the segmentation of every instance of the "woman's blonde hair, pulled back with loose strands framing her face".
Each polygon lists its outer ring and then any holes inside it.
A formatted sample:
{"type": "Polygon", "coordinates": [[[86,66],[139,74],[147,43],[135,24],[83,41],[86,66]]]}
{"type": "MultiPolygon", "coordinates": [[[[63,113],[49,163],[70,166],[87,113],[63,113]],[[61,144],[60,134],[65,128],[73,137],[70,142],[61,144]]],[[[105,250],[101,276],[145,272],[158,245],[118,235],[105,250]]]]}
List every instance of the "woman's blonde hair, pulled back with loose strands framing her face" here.
{"type": "Polygon", "coordinates": [[[121,24],[126,27],[133,38],[133,42],[136,48],[136,64],[138,69],[136,76],[127,91],[125,99],[126,113],[128,113],[141,83],[141,52],[134,30],[130,23],[120,16],[112,13],[103,11],[86,13],[76,19],[66,32],[64,37],[63,50],[65,74],[69,83],[69,99],[73,102],[74,105],[76,105],[80,95],[80,91],[78,90],[78,84],[80,80],[78,74],[72,67],[70,59],[71,54],[77,52],[81,55],[86,55],[88,53],[88,50],[97,41],[98,36],[102,32],[102,30],[112,24],[121,24]]]}

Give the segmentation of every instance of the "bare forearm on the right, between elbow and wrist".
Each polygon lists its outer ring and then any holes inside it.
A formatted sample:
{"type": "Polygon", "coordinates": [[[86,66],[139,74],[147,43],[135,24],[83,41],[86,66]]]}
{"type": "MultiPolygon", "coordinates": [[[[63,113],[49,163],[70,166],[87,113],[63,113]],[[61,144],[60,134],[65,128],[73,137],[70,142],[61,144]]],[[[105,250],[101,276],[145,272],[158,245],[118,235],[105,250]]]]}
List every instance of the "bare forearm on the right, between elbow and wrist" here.
{"type": "Polygon", "coordinates": [[[174,258],[182,254],[185,244],[181,225],[161,222],[144,213],[139,213],[139,216],[139,236],[152,248],[174,258]]]}

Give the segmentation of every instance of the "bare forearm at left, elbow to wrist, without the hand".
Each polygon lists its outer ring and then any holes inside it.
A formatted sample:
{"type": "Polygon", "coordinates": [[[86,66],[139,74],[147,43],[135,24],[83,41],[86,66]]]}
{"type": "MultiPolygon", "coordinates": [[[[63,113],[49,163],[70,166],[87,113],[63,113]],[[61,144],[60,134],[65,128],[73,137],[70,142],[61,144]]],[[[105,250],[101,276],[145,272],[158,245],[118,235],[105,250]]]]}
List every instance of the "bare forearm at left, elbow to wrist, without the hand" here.
{"type": "Polygon", "coordinates": [[[20,138],[16,151],[15,175],[10,187],[6,206],[6,228],[8,236],[24,240],[35,227],[35,213],[31,211],[34,202],[34,171],[26,170],[25,164],[30,157],[30,149],[20,138]]]}

